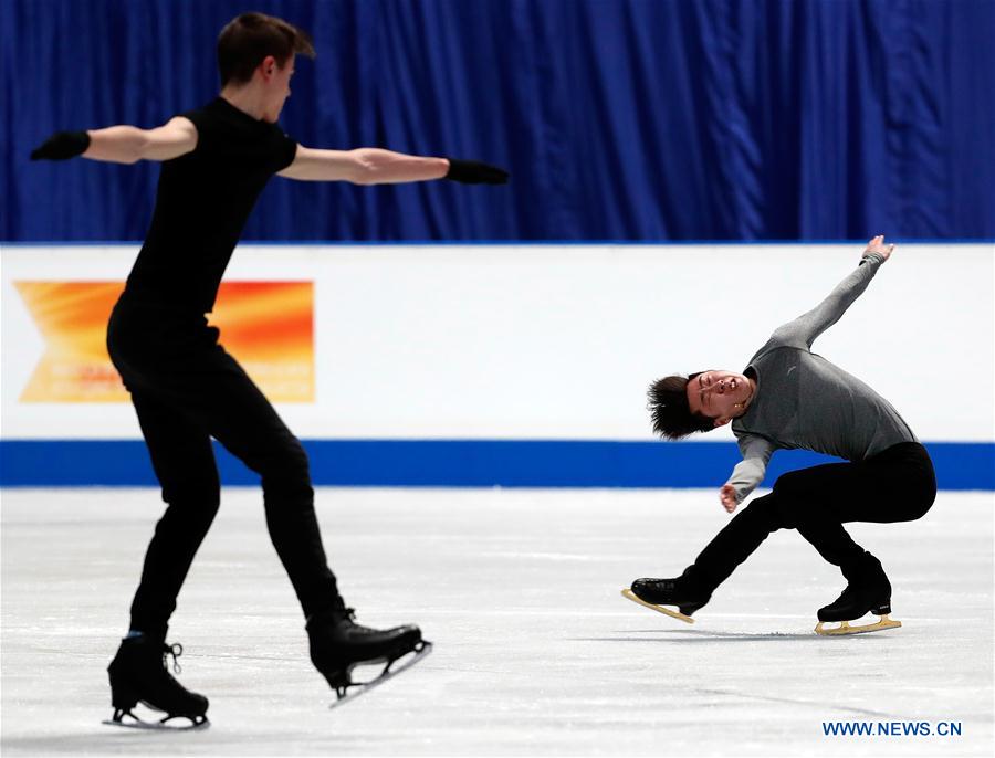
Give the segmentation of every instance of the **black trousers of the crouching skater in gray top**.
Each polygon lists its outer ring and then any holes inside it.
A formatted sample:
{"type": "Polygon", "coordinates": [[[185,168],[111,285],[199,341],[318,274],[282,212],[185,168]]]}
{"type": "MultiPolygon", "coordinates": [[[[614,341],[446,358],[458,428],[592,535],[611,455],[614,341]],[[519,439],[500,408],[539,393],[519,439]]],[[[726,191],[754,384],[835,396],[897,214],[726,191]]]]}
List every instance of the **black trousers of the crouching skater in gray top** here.
{"type": "Polygon", "coordinates": [[[842,525],[892,524],[921,518],[936,497],[929,453],[918,442],[902,442],[859,463],[829,463],[778,477],[774,491],[747,505],[709,543],[694,561],[712,586],[777,529],[797,529],[819,555],[847,575],[863,548],[842,525]]]}

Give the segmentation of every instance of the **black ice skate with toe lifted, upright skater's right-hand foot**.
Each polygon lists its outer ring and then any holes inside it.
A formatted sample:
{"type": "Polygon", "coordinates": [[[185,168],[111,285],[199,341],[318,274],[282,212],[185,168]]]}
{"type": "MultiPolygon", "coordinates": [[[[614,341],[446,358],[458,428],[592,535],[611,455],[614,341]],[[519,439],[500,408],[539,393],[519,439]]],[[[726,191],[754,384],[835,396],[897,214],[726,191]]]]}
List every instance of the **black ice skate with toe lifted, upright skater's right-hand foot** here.
{"type": "Polygon", "coordinates": [[[413,624],[377,630],[353,621],[352,608],[307,619],[311,662],[337,696],[333,707],[383,684],[409,668],[432,650],[413,624]],[[394,664],[400,661],[395,666],[394,664]],[[355,681],[353,671],[365,664],[385,664],[373,678],[355,681]]]}

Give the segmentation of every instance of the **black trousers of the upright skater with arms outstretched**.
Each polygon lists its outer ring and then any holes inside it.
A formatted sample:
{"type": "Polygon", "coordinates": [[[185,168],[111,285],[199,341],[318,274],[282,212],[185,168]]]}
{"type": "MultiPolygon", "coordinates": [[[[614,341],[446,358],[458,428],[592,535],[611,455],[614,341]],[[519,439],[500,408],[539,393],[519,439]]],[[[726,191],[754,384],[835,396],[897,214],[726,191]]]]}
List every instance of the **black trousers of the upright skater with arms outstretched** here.
{"type": "Polygon", "coordinates": [[[270,538],[305,615],[342,608],[328,569],[307,456],[202,315],[115,306],[107,348],[132,393],[166,513],[145,556],[132,629],[165,636],[176,598],[220,504],[211,438],[262,477],[270,538]]]}

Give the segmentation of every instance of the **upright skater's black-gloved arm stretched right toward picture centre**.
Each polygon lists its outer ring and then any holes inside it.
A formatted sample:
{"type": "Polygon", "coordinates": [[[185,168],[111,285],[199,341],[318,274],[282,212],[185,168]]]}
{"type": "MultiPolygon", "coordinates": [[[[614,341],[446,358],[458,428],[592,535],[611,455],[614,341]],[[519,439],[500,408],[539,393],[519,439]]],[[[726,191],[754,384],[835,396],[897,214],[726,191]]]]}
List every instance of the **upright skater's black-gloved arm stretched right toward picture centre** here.
{"type": "Polygon", "coordinates": [[[302,181],[350,181],[354,185],[396,185],[431,179],[488,185],[507,181],[506,171],[474,161],[423,158],[374,147],[320,150],[303,145],[297,146],[294,162],[280,171],[280,176],[302,181]]]}

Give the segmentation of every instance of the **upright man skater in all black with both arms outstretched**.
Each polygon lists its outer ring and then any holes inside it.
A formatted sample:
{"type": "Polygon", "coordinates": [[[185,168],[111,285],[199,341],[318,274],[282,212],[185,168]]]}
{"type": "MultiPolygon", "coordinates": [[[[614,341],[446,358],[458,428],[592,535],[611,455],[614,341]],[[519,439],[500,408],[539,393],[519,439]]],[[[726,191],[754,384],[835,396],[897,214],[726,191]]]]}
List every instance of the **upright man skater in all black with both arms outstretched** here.
{"type": "Polygon", "coordinates": [[[138,701],[167,718],[206,722],[207,698],[166,670],[166,654],[181,649],[165,640],[220,502],[211,438],[262,477],[266,525],[306,617],[311,659],[339,696],[356,662],[391,662],[425,644],[415,625],[377,631],[353,622],[325,559],[305,452],[218,344],[205,314],[274,173],[358,185],[443,178],[499,185],[507,173],[474,161],[297,145],[276,124],[296,53],[314,56],[305,33],[281,19],[245,13],[218,40],[222,88],[213,102],[155,129],[59,133],[31,156],[164,161],[151,225],[107,331],[168,504],[145,558],[130,631],[108,670],[116,722],[138,701]]]}

